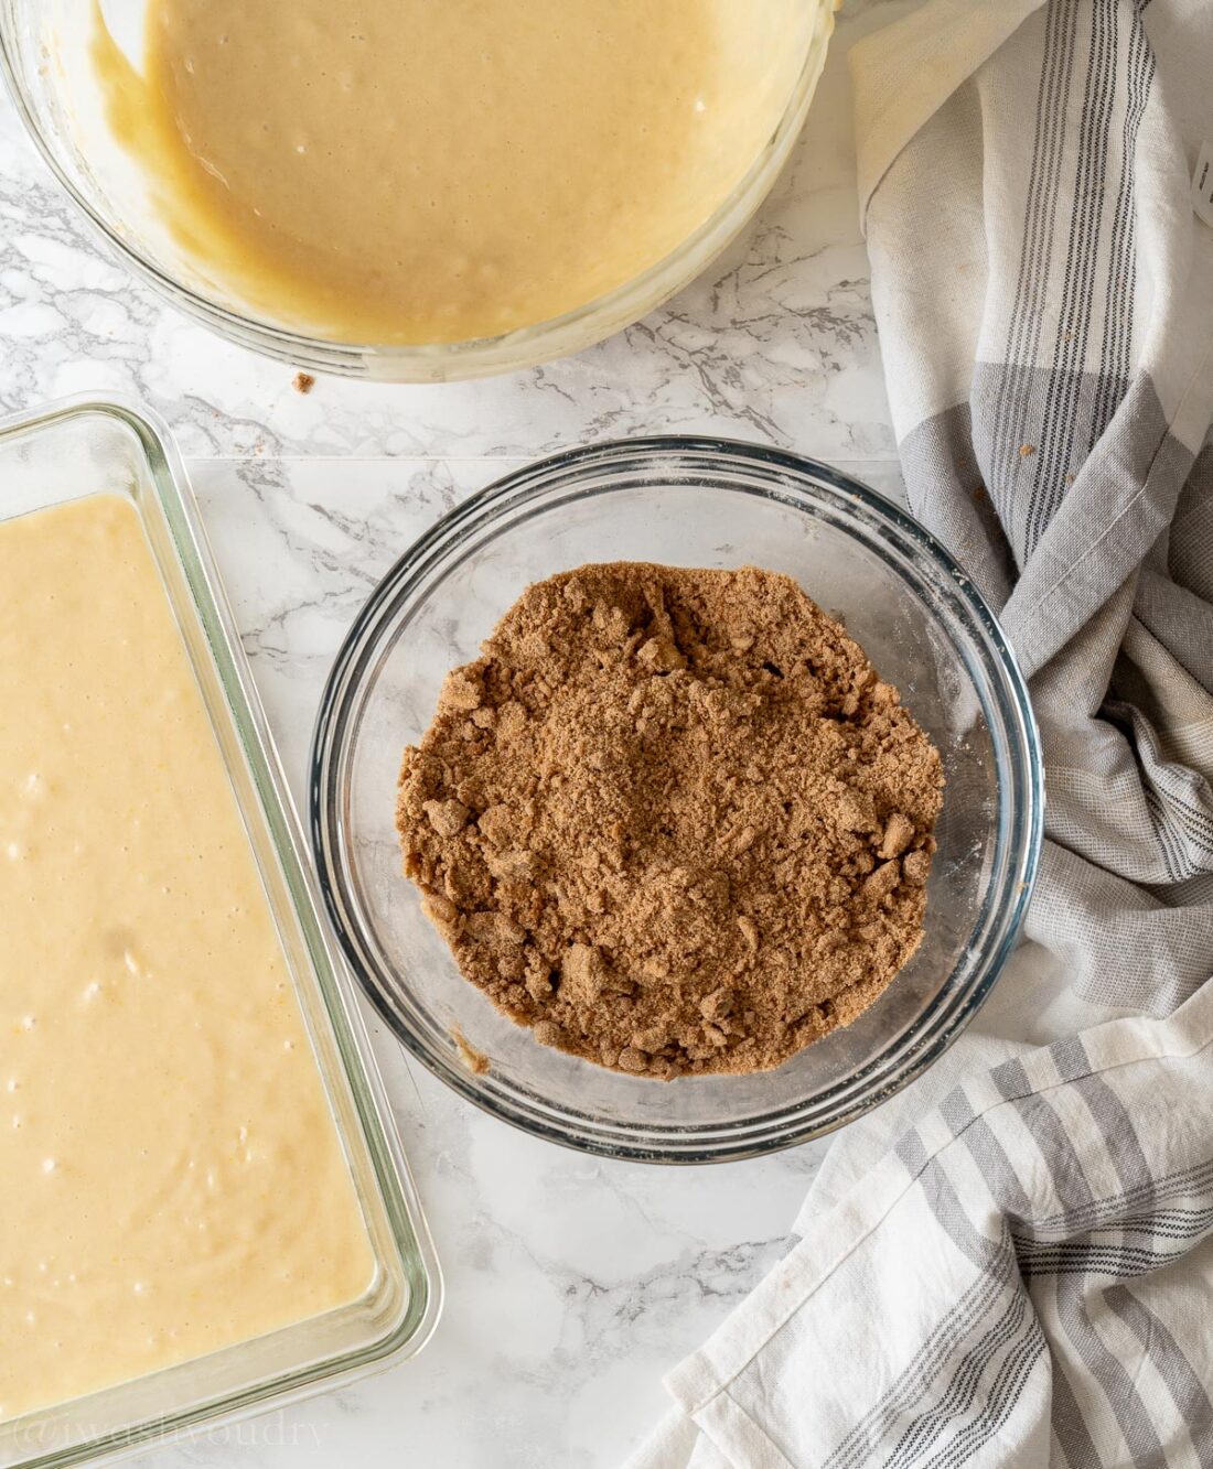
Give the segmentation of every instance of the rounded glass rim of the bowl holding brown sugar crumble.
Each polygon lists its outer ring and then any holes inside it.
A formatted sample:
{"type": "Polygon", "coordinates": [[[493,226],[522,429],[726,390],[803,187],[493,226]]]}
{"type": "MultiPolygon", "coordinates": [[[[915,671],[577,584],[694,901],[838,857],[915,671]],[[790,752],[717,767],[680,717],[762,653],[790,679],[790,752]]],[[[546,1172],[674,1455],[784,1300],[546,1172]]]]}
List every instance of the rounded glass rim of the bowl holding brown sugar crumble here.
{"type": "MultiPolygon", "coordinates": [[[[684,473],[679,477],[685,480],[691,476],[684,473]]],[[[594,494],[610,494],[612,488],[600,486],[594,494]]],[[[1004,787],[1006,783],[1000,782],[1000,786],[1004,787]]],[[[909,1086],[965,1031],[1006,965],[1031,900],[1044,834],[1044,762],[1026,682],[992,610],[956,558],[913,516],[862,480],[803,454],[741,439],[653,435],[570,448],[512,470],[441,516],[397,557],[350,624],[325,680],[312,734],[307,804],[321,892],[346,961],[397,1040],[434,1075],[488,1115],[576,1152],[635,1162],[707,1163],[765,1156],[854,1121],[909,1086]],[[997,921],[987,939],[990,948],[975,965],[967,987],[951,996],[948,1003],[932,1002],[888,1046],[834,1083],[822,1097],[813,1100],[813,1115],[801,1121],[804,1105],[792,1105],[773,1114],[748,1116],[740,1124],[669,1124],[634,1131],[626,1124],[612,1121],[585,1133],[578,1130],[576,1119],[570,1121],[563,1108],[534,1093],[526,1093],[528,1102],[523,1105],[515,1091],[510,1091],[509,1099],[487,1091],[485,1078],[473,1077],[457,1061],[435,1053],[410,1028],[369,971],[357,928],[348,918],[341,864],[334,856],[344,851],[344,833],[340,817],[335,827],[329,823],[334,804],[328,798],[335,789],[340,765],[337,757],[346,751],[344,734],[353,712],[350,701],[360,689],[360,673],[376,646],[378,633],[391,624],[400,604],[434,563],[457,546],[468,530],[491,526],[509,511],[550,492],[554,485],[563,483],[570,489],[587,473],[622,469],[637,461],[647,461],[653,472],[660,472],[663,461],[678,460],[685,466],[695,458],[706,469],[709,464],[718,469],[757,467],[776,474],[792,474],[800,482],[815,480],[819,488],[857,501],[882,529],[900,533],[950,580],[984,635],[991,663],[1003,676],[994,693],[1004,704],[1012,734],[1006,757],[1006,764],[1012,767],[1012,793],[1006,831],[1001,830],[1004,823],[1000,815],[998,845],[1012,859],[1001,884],[991,886],[975,918],[972,931],[979,931],[987,911],[998,908],[997,921]],[[865,1078],[872,1071],[898,1056],[900,1064],[891,1080],[870,1090],[863,1089],[865,1078]],[[822,1119],[816,1114],[831,1097],[838,1097],[838,1105],[822,1119]],[[788,1112],[794,1114],[790,1121],[788,1112]],[[772,1130],[772,1122],[779,1118],[785,1121],[772,1130]],[[645,1140],[654,1136],[657,1141],[645,1140]]],[[[490,1078],[491,1075],[490,1072],[490,1078]]],[[[676,1086],[679,1081],[670,1084],[676,1086]]]]}

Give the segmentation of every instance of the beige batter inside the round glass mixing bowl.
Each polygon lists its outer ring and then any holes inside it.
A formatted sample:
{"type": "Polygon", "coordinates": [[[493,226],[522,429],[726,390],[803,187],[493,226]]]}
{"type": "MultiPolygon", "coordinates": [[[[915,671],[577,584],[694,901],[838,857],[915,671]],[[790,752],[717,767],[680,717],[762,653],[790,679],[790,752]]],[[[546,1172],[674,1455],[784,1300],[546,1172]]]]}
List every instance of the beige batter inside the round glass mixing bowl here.
{"type": "MultiPolygon", "coordinates": [[[[154,0],[118,131],[198,269],[347,341],[451,342],[679,245],[776,126],[806,0],[154,0]]],[[[100,12],[99,12],[100,13],[100,12]]]]}

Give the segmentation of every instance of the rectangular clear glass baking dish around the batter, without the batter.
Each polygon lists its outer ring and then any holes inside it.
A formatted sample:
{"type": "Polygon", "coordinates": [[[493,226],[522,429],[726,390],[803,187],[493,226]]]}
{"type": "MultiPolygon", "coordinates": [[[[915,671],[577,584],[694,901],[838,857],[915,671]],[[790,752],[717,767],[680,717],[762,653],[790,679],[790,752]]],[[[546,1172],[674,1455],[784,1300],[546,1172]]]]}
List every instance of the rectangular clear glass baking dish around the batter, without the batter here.
{"type": "MultiPolygon", "coordinates": [[[[416,1353],[441,1303],[429,1232],[353,992],[318,918],[298,820],[176,450],[150,414],[124,403],[71,400],[0,422],[0,520],[94,494],[128,498],[151,544],[282,942],[376,1263],[366,1293],[348,1306],[0,1422],[3,1469],[109,1460],[365,1376],[416,1353]]],[[[13,613],[19,610],[4,608],[13,613]]]]}

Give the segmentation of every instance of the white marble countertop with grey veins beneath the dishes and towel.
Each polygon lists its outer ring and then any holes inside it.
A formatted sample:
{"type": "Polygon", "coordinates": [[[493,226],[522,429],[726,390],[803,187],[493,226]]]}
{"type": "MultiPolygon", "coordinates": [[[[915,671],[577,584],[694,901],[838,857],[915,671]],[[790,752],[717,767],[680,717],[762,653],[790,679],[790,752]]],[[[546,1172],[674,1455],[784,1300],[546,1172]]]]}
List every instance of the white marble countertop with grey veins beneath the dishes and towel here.
{"type": "MultiPolygon", "coordinates": [[[[121,391],[168,420],[297,792],[322,679],[362,599],[507,467],[690,430],[895,488],[844,65],[891,10],[848,4],[791,167],[706,278],[593,351],[479,383],[321,379],[301,397],[288,367],[210,336],[103,256],[0,101],[0,413],[121,391]]],[[[697,1169],[600,1162],[482,1116],[382,1033],[376,1049],[446,1271],[434,1341],[365,1385],[146,1462],[618,1463],[665,1407],[662,1372],[779,1256],[820,1146],[697,1169]]]]}

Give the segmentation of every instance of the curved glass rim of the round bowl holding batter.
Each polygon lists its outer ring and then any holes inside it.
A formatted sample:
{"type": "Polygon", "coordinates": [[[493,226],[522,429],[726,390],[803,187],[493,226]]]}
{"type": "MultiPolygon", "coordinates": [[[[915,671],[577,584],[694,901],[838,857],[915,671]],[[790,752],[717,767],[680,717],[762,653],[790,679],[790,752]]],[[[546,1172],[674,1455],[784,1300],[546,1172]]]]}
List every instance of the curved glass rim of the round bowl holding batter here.
{"type": "Polygon", "coordinates": [[[124,237],[88,192],[72,178],[60,150],[38,120],[25,84],[25,68],[6,18],[12,0],[0,6],[0,75],[26,135],[59,187],[82,212],[94,234],[179,310],[221,336],[281,361],[348,376],[369,373],[394,382],[447,382],[515,372],[581,351],[622,331],[688,285],[728,247],[775,184],[795,144],[825,66],[834,32],[834,0],[801,0],[813,6],[804,56],[787,103],[770,135],[744,175],[716,209],[678,245],[612,291],[543,322],[493,336],[459,342],[344,342],[276,325],[250,307],[223,306],[201,289],[178,281],[150,254],[124,237]],[[379,370],[376,370],[379,369],[379,370]]]}

